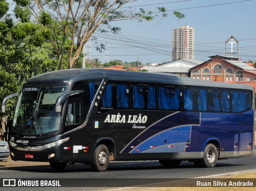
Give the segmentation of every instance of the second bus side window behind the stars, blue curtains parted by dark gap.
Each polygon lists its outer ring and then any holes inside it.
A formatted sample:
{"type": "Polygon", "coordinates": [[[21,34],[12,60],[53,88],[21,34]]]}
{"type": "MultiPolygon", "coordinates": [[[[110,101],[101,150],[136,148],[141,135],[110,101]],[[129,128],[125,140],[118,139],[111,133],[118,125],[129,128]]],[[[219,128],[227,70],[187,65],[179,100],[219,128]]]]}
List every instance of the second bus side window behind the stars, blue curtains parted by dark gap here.
{"type": "Polygon", "coordinates": [[[156,109],[156,86],[148,84],[131,85],[132,108],[156,109]]]}

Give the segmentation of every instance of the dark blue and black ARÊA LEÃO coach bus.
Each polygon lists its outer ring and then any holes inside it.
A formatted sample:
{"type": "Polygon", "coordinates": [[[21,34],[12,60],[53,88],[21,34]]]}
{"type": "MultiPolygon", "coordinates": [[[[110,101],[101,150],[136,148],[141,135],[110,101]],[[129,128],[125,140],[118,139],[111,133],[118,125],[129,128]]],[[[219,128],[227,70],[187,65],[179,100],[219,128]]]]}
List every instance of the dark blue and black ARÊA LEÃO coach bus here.
{"type": "Polygon", "coordinates": [[[250,156],[254,90],[167,73],[67,69],[24,83],[10,137],[12,160],[48,161],[53,169],[110,161],[181,161],[214,167],[250,156]]]}

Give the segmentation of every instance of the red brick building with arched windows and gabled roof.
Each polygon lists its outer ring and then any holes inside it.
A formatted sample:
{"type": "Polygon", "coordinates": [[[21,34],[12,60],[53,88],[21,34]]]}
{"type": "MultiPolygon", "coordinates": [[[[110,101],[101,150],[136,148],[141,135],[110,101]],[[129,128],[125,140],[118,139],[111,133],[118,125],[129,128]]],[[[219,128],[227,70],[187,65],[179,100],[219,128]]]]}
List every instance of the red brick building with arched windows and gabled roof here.
{"type": "Polygon", "coordinates": [[[256,68],[239,61],[239,58],[211,56],[211,59],[191,68],[191,78],[215,82],[256,81],[256,68]]]}

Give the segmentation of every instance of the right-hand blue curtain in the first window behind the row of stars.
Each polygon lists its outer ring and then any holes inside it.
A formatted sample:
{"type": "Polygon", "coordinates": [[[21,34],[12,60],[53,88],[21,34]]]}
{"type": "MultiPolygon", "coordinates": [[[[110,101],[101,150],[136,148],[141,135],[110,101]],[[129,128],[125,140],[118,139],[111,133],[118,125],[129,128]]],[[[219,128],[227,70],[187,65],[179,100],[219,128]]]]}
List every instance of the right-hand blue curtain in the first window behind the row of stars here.
{"type": "Polygon", "coordinates": [[[126,93],[127,86],[123,84],[116,85],[117,106],[119,108],[128,108],[128,94],[126,93]]]}

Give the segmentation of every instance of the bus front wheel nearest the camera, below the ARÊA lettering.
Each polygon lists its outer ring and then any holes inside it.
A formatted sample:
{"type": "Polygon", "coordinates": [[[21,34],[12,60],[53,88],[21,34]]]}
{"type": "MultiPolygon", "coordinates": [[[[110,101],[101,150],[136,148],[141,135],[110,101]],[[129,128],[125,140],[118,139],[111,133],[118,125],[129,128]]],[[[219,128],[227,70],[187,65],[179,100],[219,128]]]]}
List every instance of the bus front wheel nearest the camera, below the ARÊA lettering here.
{"type": "Polygon", "coordinates": [[[106,145],[99,145],[94,151],[91,167],[93,171],[104,172],[108,168],[109,152],[106,145]]]}

